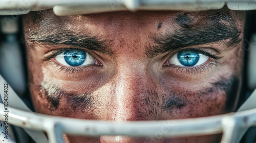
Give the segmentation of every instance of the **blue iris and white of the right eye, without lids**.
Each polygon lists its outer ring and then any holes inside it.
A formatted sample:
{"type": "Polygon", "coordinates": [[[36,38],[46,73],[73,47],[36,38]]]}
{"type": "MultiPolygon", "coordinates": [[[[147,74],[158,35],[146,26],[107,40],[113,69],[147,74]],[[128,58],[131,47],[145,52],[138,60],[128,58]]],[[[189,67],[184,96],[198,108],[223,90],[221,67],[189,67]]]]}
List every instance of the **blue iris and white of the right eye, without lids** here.
{"type": "Polygon", "coordinates": [[[193,50],[180,51],[168,60],[169,64],[191,67],[205,63],[209,57],[193,50]]]}

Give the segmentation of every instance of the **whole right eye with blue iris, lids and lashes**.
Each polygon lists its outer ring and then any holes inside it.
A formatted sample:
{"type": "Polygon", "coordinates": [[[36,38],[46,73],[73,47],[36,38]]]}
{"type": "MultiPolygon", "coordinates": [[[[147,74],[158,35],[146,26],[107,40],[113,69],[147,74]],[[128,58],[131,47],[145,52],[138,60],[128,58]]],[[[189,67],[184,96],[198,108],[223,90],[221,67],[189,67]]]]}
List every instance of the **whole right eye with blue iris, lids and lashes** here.
{"type": "Polygon", "coordinates": [[[173,69],[177,69],[183,72],[193,72],[208,70],[212,65],[216,64],[218,57],[217,54],[212,52],[206,52],[198,49],[185,49],[178,51],[172,57],[170,57],[164,66],[172,66],[173,69]]]}

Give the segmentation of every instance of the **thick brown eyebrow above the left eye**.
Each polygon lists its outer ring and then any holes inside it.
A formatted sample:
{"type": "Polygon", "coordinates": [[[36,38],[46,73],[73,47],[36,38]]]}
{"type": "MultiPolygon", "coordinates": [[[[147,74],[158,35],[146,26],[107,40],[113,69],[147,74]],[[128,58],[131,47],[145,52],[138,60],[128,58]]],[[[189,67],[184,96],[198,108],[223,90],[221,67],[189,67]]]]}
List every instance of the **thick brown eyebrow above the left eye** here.
{"type": "Polygon", "coordinates": [[[65,44],[74,47],[83,47],[87,50],[96,51],[104,55],[114,56],[114,52],[109,48],[110,45],[103,40],[99,40],[90,34],[75,34],[67,30],[33,30],[28,34],[28,40],[40,44],[65,44]]]}

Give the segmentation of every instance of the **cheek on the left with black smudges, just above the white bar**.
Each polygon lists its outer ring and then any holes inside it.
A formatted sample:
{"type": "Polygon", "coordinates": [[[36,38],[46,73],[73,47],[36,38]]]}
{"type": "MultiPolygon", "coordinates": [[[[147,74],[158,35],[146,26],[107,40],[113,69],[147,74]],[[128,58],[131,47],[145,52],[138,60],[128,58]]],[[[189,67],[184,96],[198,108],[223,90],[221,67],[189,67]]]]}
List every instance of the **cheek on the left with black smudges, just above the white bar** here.
{"type": "Polygon", "coordinates": [[[42,82],[31,87],[35,110],[39,113],[76,118],[95,118],[95,98],[80,91],[66,92],[54,84],[42,82]]]}

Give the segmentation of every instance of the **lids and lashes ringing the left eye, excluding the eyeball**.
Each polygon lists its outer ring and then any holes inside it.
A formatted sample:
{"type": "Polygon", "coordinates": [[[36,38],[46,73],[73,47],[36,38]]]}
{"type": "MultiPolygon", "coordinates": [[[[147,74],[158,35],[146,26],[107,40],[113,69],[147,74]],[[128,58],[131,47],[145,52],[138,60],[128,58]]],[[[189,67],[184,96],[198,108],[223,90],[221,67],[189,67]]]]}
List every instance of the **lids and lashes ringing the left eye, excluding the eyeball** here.
{"type": "MultiPolygon", "coordinates": [[[[88,66],[81,66],[81,67],[67,67],[67,66],[62,66],[59,65],[58,63],[51,61],[51,59],[55,58],[56,56],[58,56],[59,54],[67,51],[67,50],[83,50],[83,49],[77,49],[77,48],[66,48],[66,49],[60,49],[60,50],[55,50],[51,55],[44,57],[44,59],[42,59],[43,61],[49,61],[51,62],[51,64],[53,64],[55,67],[59,68],[59,72],[62,70],[65,70],[65,73],[68,74],[73,74],[73,73],[81,73],[84,70],[88,70],[90,67],[92,67],[92,65],[88,65],[88,66]]],[[[86,50],[83,50],[84,52],[88,53],[89,55],[92,56],[91,53],[89,53],[86,50]]],[[[94,57],[94,56],[92,56],[94,57]]],[[[98,60],[96,60],[95,65],[102,65],[98,60]]]]}

